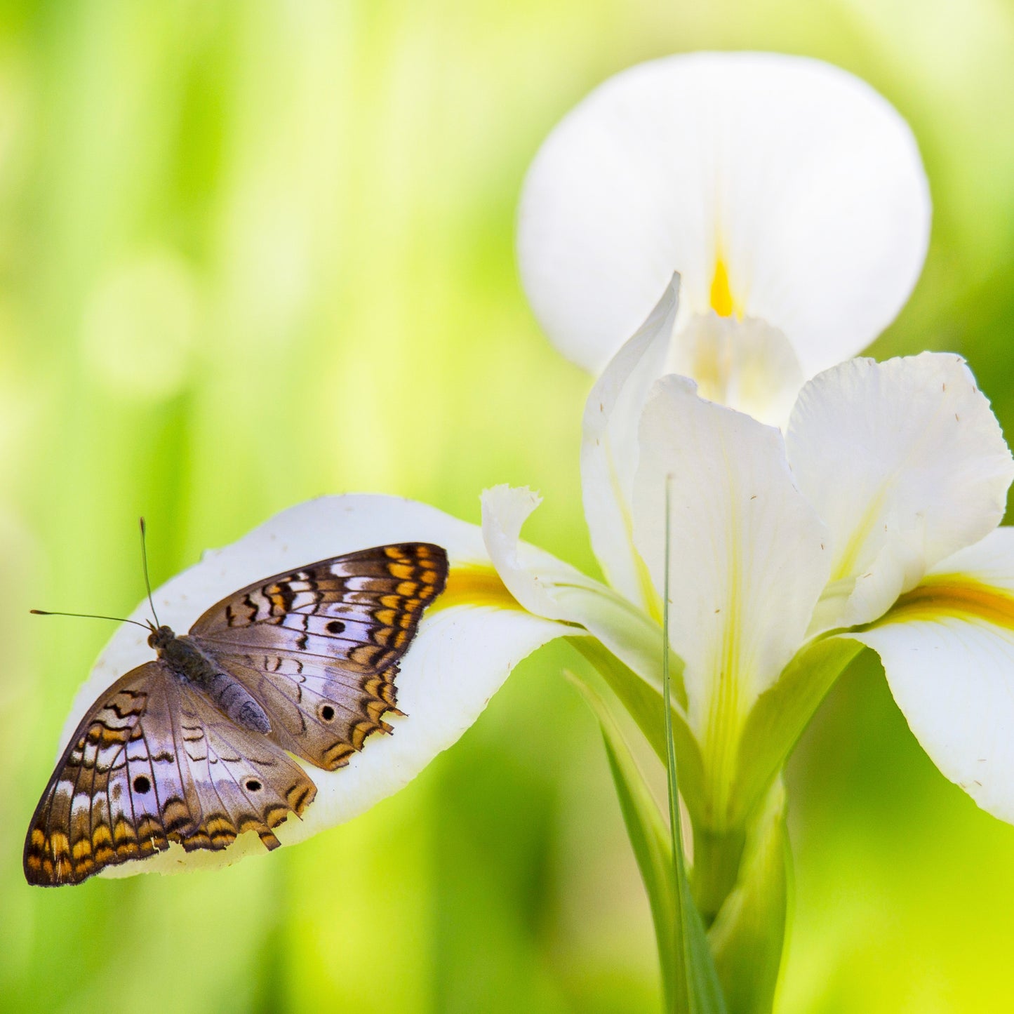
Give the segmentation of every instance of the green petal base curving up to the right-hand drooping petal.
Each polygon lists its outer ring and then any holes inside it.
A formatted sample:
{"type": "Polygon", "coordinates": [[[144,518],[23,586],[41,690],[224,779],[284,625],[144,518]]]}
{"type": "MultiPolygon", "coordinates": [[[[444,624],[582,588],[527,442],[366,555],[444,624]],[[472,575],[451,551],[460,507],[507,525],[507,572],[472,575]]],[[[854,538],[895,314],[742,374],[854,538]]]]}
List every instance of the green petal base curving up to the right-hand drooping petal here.
{"type": "Polygon", "coordinates": [[[811,642],[782,670],[778,681],[757,698],[739,741],[731,826],[749,821],[817,706],[862,650],[861,644],[846,638],[811,642]]]}

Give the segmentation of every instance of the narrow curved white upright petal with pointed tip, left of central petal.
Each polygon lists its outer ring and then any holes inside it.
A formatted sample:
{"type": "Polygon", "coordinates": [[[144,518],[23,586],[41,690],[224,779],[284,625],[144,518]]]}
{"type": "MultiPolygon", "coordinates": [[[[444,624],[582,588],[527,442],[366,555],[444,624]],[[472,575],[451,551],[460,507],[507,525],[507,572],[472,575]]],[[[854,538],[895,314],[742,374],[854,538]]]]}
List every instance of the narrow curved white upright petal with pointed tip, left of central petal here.
{"type": "Polygon", "coordinates": [[[656,615],[657,596],[634,546],[631,495],[641,410],[665,372],[678,298],[679,278],[674,276],[640,331],[592,387],[581,436],[581,491],[592,549],[609,584],[656,615]]]}

